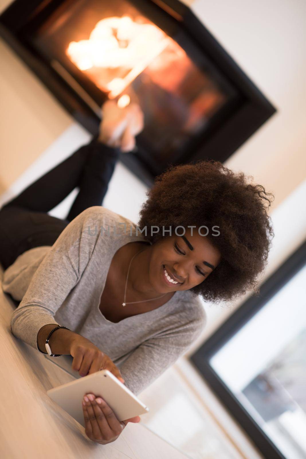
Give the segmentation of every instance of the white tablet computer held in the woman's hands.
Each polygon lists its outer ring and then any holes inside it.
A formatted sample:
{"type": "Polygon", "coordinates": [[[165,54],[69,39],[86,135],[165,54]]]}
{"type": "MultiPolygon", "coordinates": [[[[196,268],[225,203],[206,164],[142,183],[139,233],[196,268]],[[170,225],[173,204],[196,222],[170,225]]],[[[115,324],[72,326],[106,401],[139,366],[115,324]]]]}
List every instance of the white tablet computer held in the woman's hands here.
{"type": "Polygon", "coordinates": [[[83,427],[85,425],[82,400],[84,395],[88,393],[102,397],[120,421],[149,411],[148,407],[109,370],[97,371],[92,375],[84,376],[47,391],[49,397],[83,427]]]}

